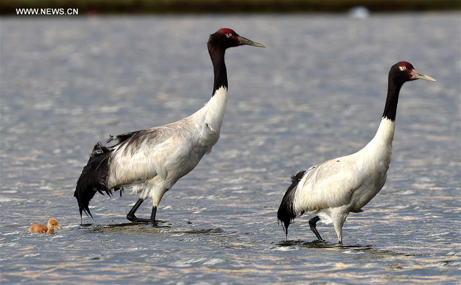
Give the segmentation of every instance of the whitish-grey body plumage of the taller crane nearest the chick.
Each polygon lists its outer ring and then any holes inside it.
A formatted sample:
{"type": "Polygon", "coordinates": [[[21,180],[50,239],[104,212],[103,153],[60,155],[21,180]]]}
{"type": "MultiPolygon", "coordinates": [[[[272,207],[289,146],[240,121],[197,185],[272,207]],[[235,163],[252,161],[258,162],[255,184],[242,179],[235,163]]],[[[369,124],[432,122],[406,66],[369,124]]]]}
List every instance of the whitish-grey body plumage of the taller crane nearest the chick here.
{"type": "Polygon", "coordinates": [[[127,188],[157,207],[163,194],[211,152],[221,130],[227,90],[221,87],[207,104],[180,121],[144,131],[113,147],[108,188],[127,188]],[[139,140],[139,141],[136,141],[139,140]]]}

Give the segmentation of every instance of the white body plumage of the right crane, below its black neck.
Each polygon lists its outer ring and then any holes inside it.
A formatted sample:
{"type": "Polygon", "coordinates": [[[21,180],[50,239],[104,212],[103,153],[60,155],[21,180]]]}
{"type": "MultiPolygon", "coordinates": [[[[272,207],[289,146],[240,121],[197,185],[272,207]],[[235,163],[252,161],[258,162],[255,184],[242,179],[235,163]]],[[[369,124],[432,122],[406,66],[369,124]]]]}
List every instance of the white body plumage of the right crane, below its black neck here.
{"type": "Polygon", "coordinates": [[[311,212],[322,222],[333,223],[342,241],[342,227],[349,212],[360,212],[386,182],[393,136],[393,121],[383,118],[366,147],[311,167],[298,183],[295,214],[311,212]]]}

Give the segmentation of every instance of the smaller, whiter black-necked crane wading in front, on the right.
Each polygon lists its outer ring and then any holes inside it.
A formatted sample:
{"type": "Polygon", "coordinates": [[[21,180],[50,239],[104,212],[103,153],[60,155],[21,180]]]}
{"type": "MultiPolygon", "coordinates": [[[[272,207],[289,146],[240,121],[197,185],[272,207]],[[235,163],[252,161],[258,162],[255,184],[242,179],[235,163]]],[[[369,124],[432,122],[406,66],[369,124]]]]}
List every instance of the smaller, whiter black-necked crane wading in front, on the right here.
{"type": "Polygon", "coordinates": [[[339,243],[347,215],[362,208],[383,188],[392,155],[395,114],[402,85],[411,80],[434,78],[416,71],[410,63],[399,62],[389,71],[386,105],[381,124],[373,139],[360,151],[334,158],[300,171],[291,177],[277,218],[288,235],[290,223],[306,213],[312,232],[322,240],[316,223],[333,223],[339,243]]]}

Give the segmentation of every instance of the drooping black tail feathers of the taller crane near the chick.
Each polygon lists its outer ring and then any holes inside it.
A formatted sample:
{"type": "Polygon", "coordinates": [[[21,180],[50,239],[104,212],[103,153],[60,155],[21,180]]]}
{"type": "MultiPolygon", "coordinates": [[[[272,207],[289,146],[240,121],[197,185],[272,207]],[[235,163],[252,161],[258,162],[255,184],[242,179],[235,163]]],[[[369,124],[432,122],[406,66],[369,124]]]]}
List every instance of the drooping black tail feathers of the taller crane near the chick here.
{"type": "Polygon", "coordinates": [[[77,198],[78,210],[80,211],[80,218],[82,212],[93,216],[90,212],[90,200],[97,192],[106,192],[108,195],[112,193],[111,189],[106,186],[106,178],[109,172],[109,162],[112,150],[104,147],[98,142],[90,154],[88,164],[83,168],[80,177],[77,180],[77,187],[75,188],[74,197],[77,198]]]}

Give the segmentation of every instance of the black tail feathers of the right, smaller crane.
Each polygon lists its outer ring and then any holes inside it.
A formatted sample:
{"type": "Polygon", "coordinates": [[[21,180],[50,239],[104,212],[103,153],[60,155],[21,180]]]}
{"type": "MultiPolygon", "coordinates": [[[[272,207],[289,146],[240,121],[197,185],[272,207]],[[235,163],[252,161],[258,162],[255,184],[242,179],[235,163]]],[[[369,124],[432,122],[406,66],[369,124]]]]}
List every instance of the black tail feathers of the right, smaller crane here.
{"type": "Polygon", "coordinates": [[[298,172],[298,174],[291,176],[291,185],[286,190],[280,203],[279,210],[277,211],[277,222],[282,222],[282,228],[285,230],[285,236],[288,236],[288,227],[290,223],[296,218],[293,202],[295,200],[295,192],[298,187],[299,181],[303,178],[305,170],[298,172]]]}

